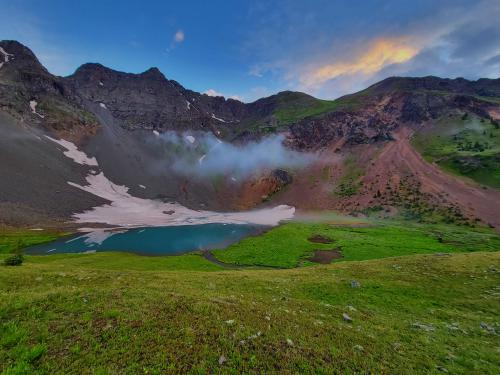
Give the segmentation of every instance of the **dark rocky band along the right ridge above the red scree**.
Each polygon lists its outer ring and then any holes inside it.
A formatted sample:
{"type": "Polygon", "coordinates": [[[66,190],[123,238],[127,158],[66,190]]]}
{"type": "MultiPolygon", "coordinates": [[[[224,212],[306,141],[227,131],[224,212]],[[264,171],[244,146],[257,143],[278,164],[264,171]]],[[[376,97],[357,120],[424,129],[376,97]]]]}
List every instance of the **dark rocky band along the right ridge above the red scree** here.
{"type": "Polygon", "coordinates": [[[292,124],[289,144],[297,149],[316,149],[339,141],[348,145],[374,143],[391,140],[392,132],[403,125],[416,127],[442,116],[470,112],[487,119],[498,104],[479,93],[494,95],[497,87],[500,80],[387,79],[351,95],[362,102],[355,110],[334,111],[292,124]]]}

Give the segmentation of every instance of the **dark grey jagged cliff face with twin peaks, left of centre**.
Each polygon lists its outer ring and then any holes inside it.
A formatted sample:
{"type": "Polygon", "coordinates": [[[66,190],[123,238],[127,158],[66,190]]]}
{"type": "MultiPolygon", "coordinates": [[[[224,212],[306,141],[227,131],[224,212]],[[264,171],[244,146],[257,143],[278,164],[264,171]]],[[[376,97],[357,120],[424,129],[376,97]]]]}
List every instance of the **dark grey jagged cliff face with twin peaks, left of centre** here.
{"type": "Polygon", "coordinates": [[[207,130],[220,132],[239,121],[245,105],[184,89],[157,69],[141,74],[116,72],[85,64],[65,78],[65,85],[82,105],[105,106],[129,130],[207,130]]]}

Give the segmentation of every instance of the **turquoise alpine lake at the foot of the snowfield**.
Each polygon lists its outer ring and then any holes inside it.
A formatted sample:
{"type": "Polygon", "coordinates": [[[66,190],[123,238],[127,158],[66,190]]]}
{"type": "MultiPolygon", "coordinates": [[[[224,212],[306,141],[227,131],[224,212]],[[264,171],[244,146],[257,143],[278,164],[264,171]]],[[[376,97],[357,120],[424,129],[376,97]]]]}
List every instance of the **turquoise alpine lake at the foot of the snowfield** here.
{"type": "Polygon", "coordinates": [[[124,251],[140,255],[178,255],[196,250],[222,249],[265,228],[249,224],[200,224],[96,230],[28,247],[25,253],[50,255],[124,251]]]}

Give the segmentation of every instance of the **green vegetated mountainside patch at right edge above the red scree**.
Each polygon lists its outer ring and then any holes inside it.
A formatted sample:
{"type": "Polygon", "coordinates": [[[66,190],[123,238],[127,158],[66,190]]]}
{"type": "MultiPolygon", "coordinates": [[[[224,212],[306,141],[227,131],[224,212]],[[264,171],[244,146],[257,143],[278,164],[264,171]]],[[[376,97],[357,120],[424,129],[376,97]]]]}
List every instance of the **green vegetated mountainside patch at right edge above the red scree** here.
{"type": "Polygon", "coordinates": [[[422,156],[448,172],[500,188],[500,129],[490,120],[447,117],[412,140],[422,156]]]}

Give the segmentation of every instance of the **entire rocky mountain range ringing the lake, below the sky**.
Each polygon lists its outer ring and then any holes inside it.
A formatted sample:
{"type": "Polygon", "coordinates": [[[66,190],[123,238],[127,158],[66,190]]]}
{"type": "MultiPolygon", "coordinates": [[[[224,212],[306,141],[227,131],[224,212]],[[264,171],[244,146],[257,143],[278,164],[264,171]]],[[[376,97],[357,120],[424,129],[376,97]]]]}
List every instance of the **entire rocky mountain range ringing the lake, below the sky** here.
{"type": "Polygon", "coordinates": [[[91,171],[48,135],[75,143],[113,183],[145,199],[215,210],[286,203],[500,227],[500,79],[393,77],[334,101],[285,91],[245,104],[185,89],[156,68],[130,74],[84,64],[56,77],[18,42],[0,48],[0,158],[8,161],[0,164],[0,221],[67,220],[106,202],[68,184],[85,185],[91,171]],[[170,130],[192,134],[192,147],[201,132],[234,145],[280,133],[290,149],[315,156],[305,168],[264,168],[243,180],[186,176],[159,141],[170,130]]]}

